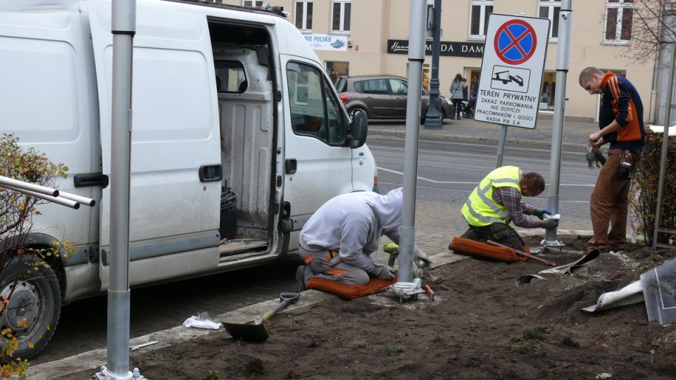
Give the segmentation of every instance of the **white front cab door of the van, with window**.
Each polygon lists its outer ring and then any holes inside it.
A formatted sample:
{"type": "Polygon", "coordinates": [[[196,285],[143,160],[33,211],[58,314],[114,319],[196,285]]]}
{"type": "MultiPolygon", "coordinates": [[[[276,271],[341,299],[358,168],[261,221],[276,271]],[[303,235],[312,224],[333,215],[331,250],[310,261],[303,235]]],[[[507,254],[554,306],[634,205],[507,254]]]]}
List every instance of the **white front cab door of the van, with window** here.
{"type": "Polygon", "coordinates": [[[316,63],[282,55],[284,85],[284,201],[293,231],[321,205],[352,187],[352,152],[344,147],[348,117],[333,84],[316,63]]]}

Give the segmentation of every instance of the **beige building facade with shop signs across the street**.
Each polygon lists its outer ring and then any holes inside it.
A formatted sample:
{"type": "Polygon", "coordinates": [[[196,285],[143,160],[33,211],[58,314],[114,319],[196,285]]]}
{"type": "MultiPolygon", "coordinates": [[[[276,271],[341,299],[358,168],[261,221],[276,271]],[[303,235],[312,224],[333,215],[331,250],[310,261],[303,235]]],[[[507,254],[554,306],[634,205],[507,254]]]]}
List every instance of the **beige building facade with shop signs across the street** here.
{"type": "MultiPolygon", "coordinates": [[[[425,1],[428,8],[434,0],[425,1]]],[[[653,62],[637,63],[620,55],[631,41],[633,0],[572,1],[569,71],[565,80],[565,120],[594,122],[600,96],[578,84],[583,68],[596,66],[627,77],[644,103],[644,118],[656,120],[658,107],[653,62]]],[[[236,6],[282,6],[306,35],[335,80],[340,75],[408,75],[408,25],[411,0],[223,0],[236,6]]],[[[561,0],[442,0],[439,91],[449,95],[456,74],[477,86],[489,14],[549,18],[551,28],[542,79],[539,118],[551,118],[557,83],[556,60],[561,0]]],[[[423,85],[429,85],[432,40],[427,41],[423,85]]]]}

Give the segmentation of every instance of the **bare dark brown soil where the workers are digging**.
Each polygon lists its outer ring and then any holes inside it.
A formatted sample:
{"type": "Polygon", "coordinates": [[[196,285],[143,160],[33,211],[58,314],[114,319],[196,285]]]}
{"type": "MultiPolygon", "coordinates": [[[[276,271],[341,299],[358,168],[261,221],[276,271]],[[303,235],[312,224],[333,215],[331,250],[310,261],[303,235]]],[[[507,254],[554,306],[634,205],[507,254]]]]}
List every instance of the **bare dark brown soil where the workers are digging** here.
{"type": "MultiPolygon", "coordinates": [[[[586,251],[587,238],[558,238],[562,253],[541,254],[556,265],[586,251]]],[[[541,240],[527,238],[531,249],[541,240]]],[[[674,379],[676,324],[649,324],[644,303],[580,311],[673,258],[676,250],[629,244],[571,275],[519,287],[520,275],[549,266],[468,258],[425,273],[434,301],[425,294],[403,303],[389,293],[332,298],[270,319],[264,343],[235,341],[222,330],[132,353],[130,367],[151,380],[674,379]]]]}

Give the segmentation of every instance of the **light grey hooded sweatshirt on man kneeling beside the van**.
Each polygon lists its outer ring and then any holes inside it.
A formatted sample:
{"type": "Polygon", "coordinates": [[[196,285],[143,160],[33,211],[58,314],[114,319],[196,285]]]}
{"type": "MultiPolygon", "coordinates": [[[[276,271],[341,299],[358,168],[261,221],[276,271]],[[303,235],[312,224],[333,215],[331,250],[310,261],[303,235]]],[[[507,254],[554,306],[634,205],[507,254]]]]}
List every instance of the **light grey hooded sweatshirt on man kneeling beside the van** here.
{"type": "Polygon", "coordinates": [[[349,265],[380,274],[370,255],[383,234],[399,244],[402,189],[385,195],[359,191],[334,197],[303,226],[300,245],[308,251],[338,251],[349,265]]]}

